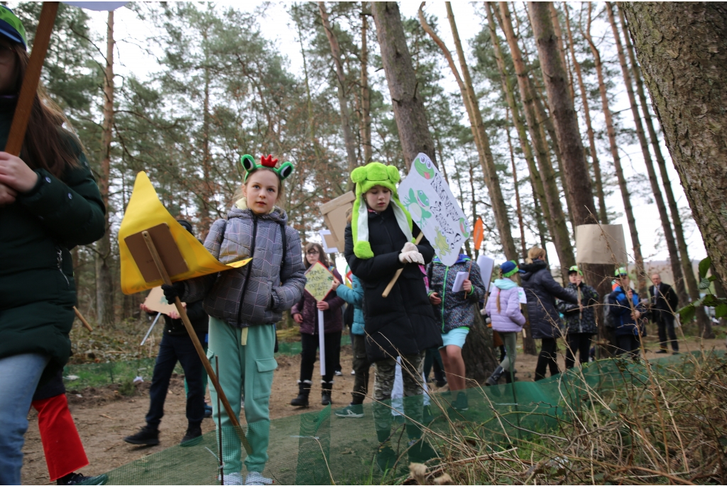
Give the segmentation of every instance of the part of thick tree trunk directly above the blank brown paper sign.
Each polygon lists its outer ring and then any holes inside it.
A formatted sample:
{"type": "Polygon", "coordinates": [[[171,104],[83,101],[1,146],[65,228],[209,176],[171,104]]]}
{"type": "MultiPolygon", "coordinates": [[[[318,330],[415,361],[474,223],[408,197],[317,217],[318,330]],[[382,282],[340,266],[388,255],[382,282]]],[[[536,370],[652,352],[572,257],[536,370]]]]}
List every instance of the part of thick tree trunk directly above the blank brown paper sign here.
{"type": "Polygon", "coordinates": [[[576,225],[593,224],[598,222],[593,204],[593,189],[578,129],[578,118],[568,89],[566,66],[558,47],[558,37],[553,30],[549,3],[529,2],[531,24],[555,135],[561,148],[564,175],[568,180],[573,219],[576,225]]]}

